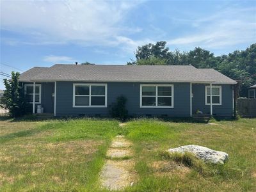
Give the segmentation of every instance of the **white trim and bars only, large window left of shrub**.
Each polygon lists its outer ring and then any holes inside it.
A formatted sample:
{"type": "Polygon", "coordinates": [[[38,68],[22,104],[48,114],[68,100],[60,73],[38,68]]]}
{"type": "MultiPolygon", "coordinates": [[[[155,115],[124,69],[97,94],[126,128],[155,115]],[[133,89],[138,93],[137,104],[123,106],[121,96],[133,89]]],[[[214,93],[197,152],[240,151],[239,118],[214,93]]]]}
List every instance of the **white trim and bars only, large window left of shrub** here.
{"type": "MultiPolygon", "coordinates": [[[[84,96],[84,95],[81,95],[84,96]]],[[[107,100],[108,100],[108,84],[104,83],[73,83],[73,108],[107,108],[108,104],[107,104],[107,100]],[[89,86],[89,95],[87,95],[89,97],[89,105],[88,106],[76,106],[76,86],[89,86]],[[96,86],[105,86],[105,95],[91,95],[91,86],[96,85],[96,86]],[[91,97],[105,97],[105,105],[104,106],[92,106],[91,105],[91,97]]]]}

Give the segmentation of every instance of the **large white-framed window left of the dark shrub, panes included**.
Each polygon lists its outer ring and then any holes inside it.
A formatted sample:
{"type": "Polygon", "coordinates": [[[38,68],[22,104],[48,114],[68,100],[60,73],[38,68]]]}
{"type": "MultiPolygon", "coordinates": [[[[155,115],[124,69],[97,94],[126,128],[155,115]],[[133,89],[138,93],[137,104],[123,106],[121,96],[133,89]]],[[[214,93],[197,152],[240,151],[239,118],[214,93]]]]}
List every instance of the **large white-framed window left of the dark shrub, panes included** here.
{"type": "Polygon", "coordinates": [[[107,84],[74,83],[73,108],[106,108],[107,84]]]}

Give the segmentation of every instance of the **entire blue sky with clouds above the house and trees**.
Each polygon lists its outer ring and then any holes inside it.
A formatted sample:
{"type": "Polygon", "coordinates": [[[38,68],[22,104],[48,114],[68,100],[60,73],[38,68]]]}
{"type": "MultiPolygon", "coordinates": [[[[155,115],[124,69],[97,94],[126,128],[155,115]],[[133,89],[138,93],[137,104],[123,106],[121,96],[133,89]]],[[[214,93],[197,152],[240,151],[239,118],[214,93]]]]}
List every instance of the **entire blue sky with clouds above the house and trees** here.
{"type": "MultiPolygon", "coordinates": [[[[139,45],[216,55],[256,41],[256,1],[0,1],[2,72],[125,64],[139,45]],[[11,67],[10,67],[11,66],[11,67]]],[[[3,76],[0,89],[3,89],[3,76]]]]}

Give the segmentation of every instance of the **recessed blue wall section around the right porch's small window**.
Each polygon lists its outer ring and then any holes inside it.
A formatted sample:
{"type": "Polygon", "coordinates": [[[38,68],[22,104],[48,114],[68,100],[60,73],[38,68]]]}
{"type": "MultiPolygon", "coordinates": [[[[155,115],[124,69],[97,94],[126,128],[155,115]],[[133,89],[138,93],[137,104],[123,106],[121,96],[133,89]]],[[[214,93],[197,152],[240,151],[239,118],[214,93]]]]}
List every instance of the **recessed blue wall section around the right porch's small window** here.
{"type": "MultiPolygon", "coordinates": [[[[221,86],[221,105],[212,105],[212,115],[216,116],[232,116],[233,115],[233,93],[230,84],[214,84],[221,86]]],[[[192,113],[197,109],[203,113],[210,114],[210,105],[205,105],[205,86],[209,84],[193,84],[192,85],[192,113]]]]}

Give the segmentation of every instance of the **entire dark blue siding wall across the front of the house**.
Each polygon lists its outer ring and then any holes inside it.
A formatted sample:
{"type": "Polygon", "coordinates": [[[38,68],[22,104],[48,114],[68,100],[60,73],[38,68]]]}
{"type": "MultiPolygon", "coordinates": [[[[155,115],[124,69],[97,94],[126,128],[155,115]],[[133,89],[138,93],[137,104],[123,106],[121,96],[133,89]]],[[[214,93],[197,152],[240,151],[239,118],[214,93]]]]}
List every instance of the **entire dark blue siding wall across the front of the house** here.
{"type": "MultiPolygon", "coordinates": [[[[56,116],[108,116],[110,105],[116,102],[116,97],[120,95],[124,95],[127,98],[127,110],[129,111],[129,115],[132,116],[190,116],[189,83],[168,83],[173,84],[173,108],[140,108],[140,84],[147,83],[107,83],[108,108],[73,108],[73,83],[86,82],[57,82],[56,116]]],[[[36,84],[42,85],[40,105],[44,108],[44,113],[54,113],[54,97],[52,97],[52,93],[54,93],[54,83],[36,84]]],[[[208,85],[209,84],[192,85],[192,113],[195,113],[196,110],[199,109],[204,113],[210,114],[210,106],[205,105],[205,86],[208,85]]],[[[232,85],[222,84],[221,93],[221,105],[213,105],[212,113],[216,116],[232,116],[232,85]]]]}

